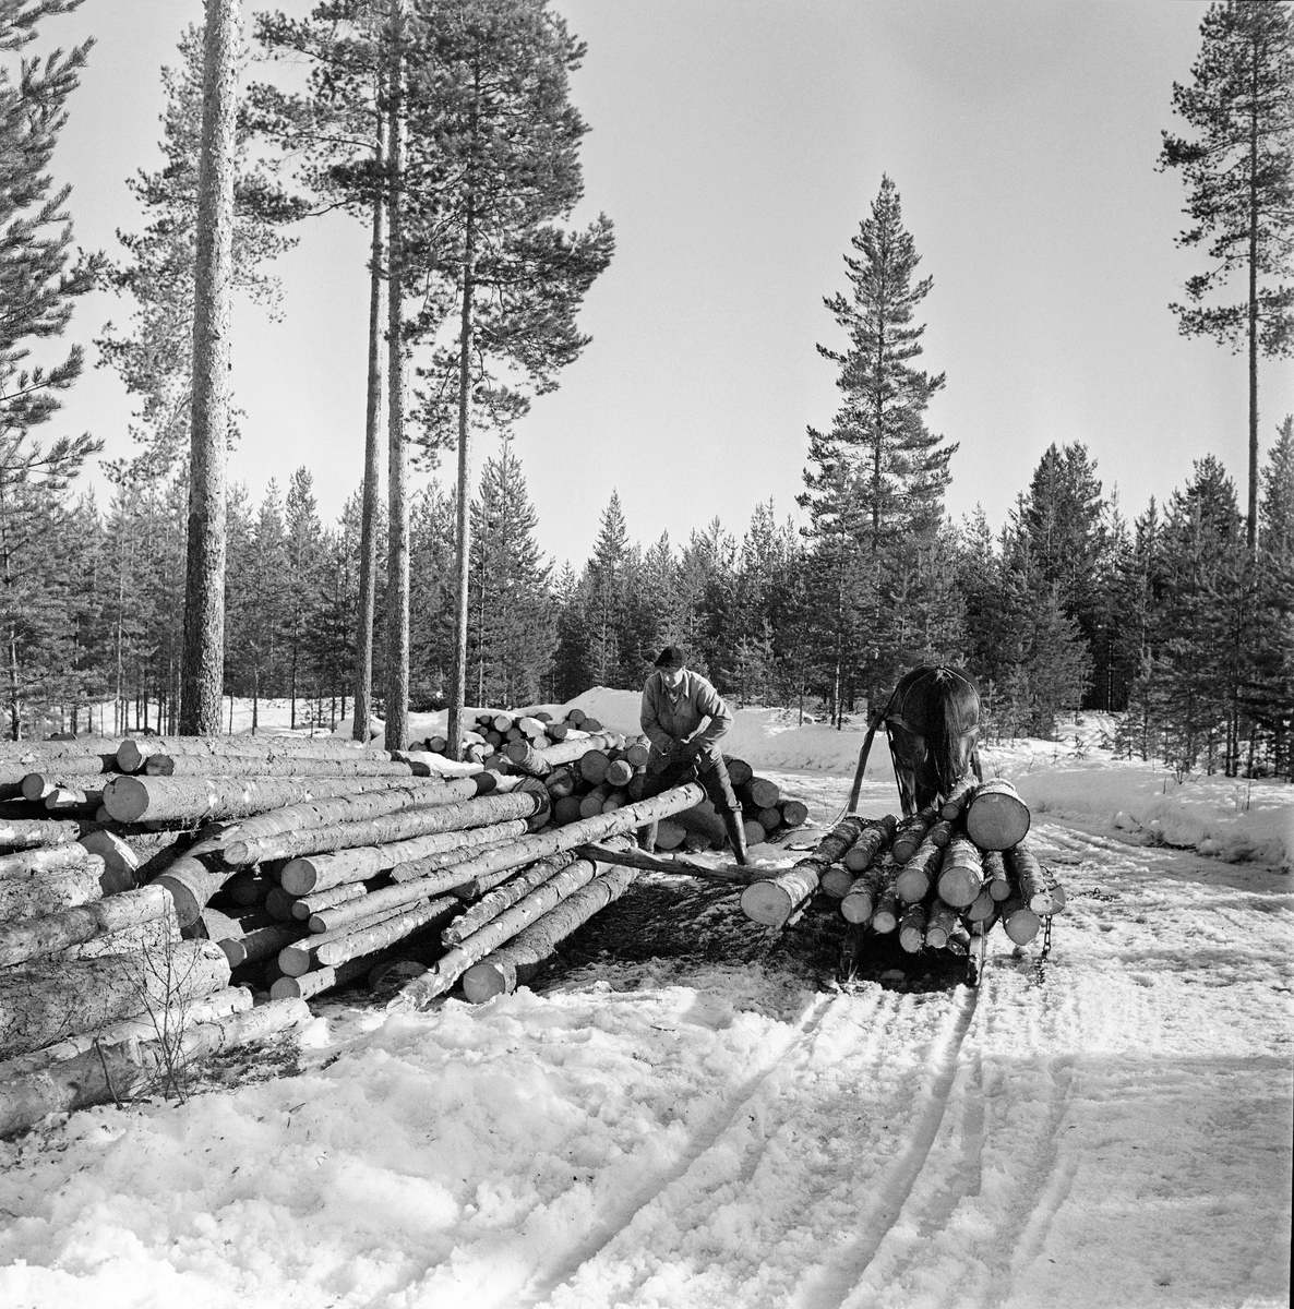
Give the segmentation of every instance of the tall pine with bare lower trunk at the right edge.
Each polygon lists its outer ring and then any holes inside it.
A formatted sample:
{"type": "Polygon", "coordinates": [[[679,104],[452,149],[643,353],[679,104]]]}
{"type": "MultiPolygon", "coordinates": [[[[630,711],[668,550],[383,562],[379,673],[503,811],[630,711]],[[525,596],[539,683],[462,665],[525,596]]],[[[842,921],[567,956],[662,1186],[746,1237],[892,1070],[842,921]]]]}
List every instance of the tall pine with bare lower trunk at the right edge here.
{"type": "Polygon", "coordinates": [[[1259,353],[1294,351],[1294,17],[1287,4],[1229,0],[1200,25],[1193,82],[1174,82],[1172,106],[1194,139],[1163,134],[1159,166],[1180,168],[1192,223],[1181,246],[1205,247],[1210,268],[1187,280],[1189,304],[1172,305],[1181,331],[1243,343],[1249,367],[1247,541],[1257,551],[1259,353]],[[1235,275],[1239,302],[1210,304],[1235,275]]]}

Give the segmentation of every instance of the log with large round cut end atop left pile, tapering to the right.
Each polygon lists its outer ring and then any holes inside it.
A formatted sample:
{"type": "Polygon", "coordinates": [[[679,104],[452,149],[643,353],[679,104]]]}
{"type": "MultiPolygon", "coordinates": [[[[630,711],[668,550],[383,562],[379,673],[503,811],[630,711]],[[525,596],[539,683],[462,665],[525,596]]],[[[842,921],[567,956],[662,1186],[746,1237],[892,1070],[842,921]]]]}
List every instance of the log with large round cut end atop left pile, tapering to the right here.
{"type": "MultiPolygon", "coordinates": [[[[409,784],[409,779],[402,779],[409,784]]],[[[306,800],[381,791],[384,778],[114,778],[103,788],[103,808],[118,822],[246,818],[306,800]]],[[[422,785],[435,795],[444,783],[422,785]]]]}

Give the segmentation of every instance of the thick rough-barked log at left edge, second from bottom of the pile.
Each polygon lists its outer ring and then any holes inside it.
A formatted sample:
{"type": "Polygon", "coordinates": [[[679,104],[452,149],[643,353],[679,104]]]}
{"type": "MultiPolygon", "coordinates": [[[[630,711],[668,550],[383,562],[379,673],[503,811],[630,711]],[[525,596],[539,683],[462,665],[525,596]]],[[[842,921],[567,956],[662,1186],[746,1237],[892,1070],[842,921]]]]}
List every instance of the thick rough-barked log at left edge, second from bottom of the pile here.
{"type": "Polygon", "coordinates": [[[179,941],[160,954],[41,959],[0,973],[0,1058],[229,984],[229,961],[211,941],[179,941]]]}

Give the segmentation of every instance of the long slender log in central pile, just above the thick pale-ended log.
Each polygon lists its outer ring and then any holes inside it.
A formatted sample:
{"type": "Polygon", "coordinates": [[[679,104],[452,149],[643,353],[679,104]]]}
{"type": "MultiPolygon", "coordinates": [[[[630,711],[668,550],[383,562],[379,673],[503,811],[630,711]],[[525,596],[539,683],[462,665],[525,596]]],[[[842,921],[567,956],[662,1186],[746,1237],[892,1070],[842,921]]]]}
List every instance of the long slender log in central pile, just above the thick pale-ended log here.
{"type": "MultiPolygon", "coordinates": [[[[444,805],[420,805],[415,809],[401,809],[361,822],[306,827],[301,831],[278,833],[259,839],[248,839],[240,830],[225,847],[225,860],[236,865],[261,864],[270,859],[295,860],[301,855],[367,850],[415,836],[431,836],[436,833],[491,827],[512,818],[534,818],[547,806],[547,792],[538,783],[532,781],[529,789],[516,789],[502,796],[478,796],[473,800],[458,800],[444,805]]],[[[443,848],[445,848],[444,844],[434,844],[428,847],[427,853],[443,848]]],[[[394,863],[398,864],[399,860],[397,859],[394,863]]],[[[390,868],[393,865],[390,863],[375,865],[375,872],[379,872],[381,867],[390,868]]]]}

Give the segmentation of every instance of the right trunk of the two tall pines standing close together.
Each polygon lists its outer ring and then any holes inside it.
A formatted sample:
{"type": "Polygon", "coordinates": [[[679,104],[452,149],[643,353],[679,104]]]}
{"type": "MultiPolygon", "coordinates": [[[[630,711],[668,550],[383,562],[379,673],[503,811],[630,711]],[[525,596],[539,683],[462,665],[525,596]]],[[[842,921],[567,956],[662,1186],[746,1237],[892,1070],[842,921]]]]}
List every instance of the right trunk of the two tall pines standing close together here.
{"type": "Polygon", "coordinates": [[[403,237],[401,170],[405,164],[403,69],[401,67],[401,0],[392,5],[390,82],[388,86],[386,202],[390,278],[386,302],[388,431],[386,431],[386,749],[409,745],[409,511],[405,487],[405,343],[403,237]]]}

